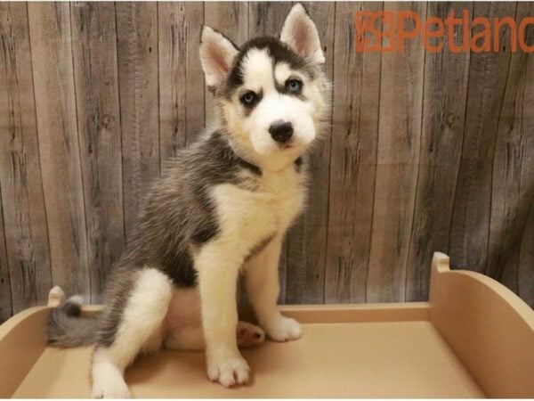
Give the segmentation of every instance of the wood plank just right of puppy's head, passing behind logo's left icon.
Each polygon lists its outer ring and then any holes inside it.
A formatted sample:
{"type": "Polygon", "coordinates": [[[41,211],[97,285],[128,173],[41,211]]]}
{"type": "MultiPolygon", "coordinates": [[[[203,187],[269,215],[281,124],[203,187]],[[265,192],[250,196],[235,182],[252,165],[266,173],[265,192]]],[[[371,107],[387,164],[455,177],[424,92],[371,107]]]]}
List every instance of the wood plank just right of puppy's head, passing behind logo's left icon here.
{"type": "Polygon", "coordinates": [[[354,50],[354,12],[380,3],[336,4],[334,102],[325,300],[365,302],[376,175],[380,53],[354,50]]]}

